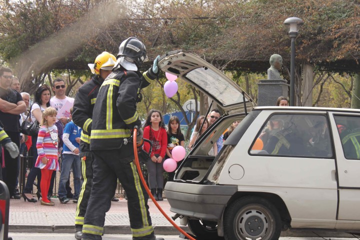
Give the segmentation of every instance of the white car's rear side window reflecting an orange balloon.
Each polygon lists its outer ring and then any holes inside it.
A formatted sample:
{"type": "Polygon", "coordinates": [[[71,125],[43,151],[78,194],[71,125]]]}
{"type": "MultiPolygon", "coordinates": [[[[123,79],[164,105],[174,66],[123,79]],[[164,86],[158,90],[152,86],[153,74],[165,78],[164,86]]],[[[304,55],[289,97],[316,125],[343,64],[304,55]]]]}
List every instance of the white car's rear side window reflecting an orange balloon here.
{"type": "Polygon", "coordinates": [[[250,154],[331,157],[325,115],[273,114],[253,139],[250,154]]]}

